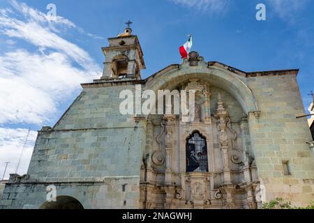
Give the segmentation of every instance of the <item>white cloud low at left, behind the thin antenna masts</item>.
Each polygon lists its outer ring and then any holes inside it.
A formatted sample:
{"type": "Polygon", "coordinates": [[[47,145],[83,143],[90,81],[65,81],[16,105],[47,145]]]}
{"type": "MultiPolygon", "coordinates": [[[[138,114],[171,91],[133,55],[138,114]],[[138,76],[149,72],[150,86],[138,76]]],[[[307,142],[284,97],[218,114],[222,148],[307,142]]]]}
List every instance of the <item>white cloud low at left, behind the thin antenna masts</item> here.
{"type": "Polygon", "coordinates": [[[4,162],[10,162],[6,169],[5,179],[8,179],[9,174],[15,173],[17,168],[17,162],[22,154],[19,169],[17,174],[26,174],[31,160],[31,153],[33,153],[33,145],[35,144],[37,132],[30,131],[27,144],[24,147],[24,142],[27,138],[27,129],[17,128],[0,128],[0,178],[2,178],[6,164],[4,162]],[[22,153],[23,151],[23,153],[22,153]]]}

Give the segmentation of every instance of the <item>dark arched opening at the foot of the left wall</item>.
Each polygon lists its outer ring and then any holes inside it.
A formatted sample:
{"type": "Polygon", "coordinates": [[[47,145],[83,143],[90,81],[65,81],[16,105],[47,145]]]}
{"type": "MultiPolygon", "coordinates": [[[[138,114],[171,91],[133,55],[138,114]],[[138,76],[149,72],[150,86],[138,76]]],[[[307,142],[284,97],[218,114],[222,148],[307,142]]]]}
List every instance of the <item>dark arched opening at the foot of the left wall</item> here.
{"type": "Polygon", "coordinates": [[[74,197],[58,196],[57,201],[46,201],[39,209],[84,209],[74,197]]]}

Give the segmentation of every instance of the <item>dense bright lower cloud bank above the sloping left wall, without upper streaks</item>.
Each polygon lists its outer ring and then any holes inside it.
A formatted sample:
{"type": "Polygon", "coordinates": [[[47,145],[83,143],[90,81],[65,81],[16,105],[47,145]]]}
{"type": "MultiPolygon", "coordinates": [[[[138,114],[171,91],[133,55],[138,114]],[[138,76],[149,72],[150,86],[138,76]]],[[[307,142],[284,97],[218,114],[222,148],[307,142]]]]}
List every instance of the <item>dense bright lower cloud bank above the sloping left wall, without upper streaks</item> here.
{"type": "Polygon", "coordinates": [[[31,54],[24,50],[0,56],[0,73],[0,123],[38,125],[49,121],[57,103],[66,100],[80,83],[95,76],[93,70],[73,68],[59,52],[31,54]]]}

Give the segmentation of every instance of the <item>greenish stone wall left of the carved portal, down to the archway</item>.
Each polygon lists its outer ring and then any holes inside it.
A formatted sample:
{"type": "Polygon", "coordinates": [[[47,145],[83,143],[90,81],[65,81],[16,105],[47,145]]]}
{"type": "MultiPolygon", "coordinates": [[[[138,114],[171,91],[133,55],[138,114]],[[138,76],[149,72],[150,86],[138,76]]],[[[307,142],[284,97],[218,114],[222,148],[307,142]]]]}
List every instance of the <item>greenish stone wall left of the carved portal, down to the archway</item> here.
{"type": "Polygon", "coordinates": [[[43,128],[29,179],[6,187],[2,207],[39,208],[47,185],[84,208],[138,208],[144,126],[119,113],[119,93],[135,86],[86,88],[54,128],[43,128]]]}

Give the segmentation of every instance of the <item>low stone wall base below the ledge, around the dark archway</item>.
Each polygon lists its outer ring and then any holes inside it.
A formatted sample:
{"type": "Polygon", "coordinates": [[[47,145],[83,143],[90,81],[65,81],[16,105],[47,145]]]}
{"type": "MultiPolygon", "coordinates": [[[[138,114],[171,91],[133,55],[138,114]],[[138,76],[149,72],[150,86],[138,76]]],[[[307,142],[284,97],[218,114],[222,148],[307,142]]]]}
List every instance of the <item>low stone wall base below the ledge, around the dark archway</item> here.
{"type": "Polygon", "coordinates": [[[45,183],[40,183],[28,180],[27,183],[9,183],[0,201],[0,208],[38,209],[47,201],[48,185],[56,186],[57,200],[59,196],[73,197],[80,201],[85,209],[138,207],[139,178],[95,178],[89,181],[82,179],[66,183],[45,180],[45,183]]]}

